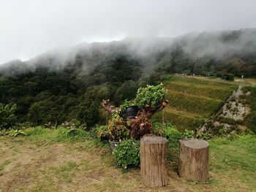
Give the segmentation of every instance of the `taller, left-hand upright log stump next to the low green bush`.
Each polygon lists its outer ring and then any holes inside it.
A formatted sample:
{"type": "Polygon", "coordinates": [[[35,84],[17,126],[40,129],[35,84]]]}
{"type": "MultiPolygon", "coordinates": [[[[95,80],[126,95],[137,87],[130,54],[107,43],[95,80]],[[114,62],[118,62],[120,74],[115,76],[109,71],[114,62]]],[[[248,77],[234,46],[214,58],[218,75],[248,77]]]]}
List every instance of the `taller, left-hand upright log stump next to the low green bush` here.
{"type": "Polygon", "coordinates": [[[148,187],[167,185],[168,140],[155,135],[140,140],[140,174],[148,187]]]}

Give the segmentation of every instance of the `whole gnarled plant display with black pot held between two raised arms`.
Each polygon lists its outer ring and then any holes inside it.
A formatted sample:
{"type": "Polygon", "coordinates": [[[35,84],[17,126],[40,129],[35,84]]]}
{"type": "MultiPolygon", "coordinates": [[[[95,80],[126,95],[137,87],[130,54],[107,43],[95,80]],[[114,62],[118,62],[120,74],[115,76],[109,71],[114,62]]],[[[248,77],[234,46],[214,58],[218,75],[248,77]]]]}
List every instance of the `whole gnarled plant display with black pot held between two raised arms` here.
{"type": "Polygon", "coordinates": [[[113,114],[108,122],[110,143],[128,137],[139,139],[145,134],[153,133],[151,117],[167,106],[169,101],[164,100],[166,93],[167,89],[161,83],[139,88],[136,98],[125,101],[121,107],[113,107],[110,100],[103,100],[102,107],[113,114]]]}

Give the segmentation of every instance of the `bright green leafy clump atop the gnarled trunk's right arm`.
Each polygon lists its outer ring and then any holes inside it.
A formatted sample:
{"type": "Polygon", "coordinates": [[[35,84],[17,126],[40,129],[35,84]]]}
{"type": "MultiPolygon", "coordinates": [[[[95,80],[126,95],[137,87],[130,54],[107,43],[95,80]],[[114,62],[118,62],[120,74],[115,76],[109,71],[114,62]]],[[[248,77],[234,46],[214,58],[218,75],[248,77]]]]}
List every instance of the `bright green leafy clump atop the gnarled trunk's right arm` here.
{"type": "Polygon", "coordinates": [[[146,88],[139,88],[135,102],[140,108],[157,107],[165,98],[167,89],[162,83],[159,85],[147,85],[146,88]]]}

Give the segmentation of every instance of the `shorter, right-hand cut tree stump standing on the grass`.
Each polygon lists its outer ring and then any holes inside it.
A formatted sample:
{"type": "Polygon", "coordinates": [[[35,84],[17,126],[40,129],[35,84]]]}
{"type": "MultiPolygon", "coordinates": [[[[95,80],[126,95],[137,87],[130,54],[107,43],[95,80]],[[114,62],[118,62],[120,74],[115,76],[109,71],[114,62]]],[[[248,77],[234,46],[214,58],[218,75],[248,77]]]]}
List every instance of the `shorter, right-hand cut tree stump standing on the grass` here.
{"type": "Polygon", "coordinates": [[[186,180],[208,180],[209,144],[205,140],[179,141],[178,173],[186,180]]]}

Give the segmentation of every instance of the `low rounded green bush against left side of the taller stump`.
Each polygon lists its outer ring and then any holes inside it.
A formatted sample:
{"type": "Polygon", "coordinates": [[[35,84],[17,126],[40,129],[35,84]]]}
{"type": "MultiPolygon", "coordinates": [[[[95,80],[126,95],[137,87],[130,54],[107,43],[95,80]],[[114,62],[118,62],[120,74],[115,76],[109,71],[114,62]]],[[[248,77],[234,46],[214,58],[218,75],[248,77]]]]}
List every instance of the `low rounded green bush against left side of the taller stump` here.
{"type": "Polygon", "coordinates": [[[127,139],[121,141],[114,151],[116,164],[122,169],[140,164],[140,141],[127,139]]]}

